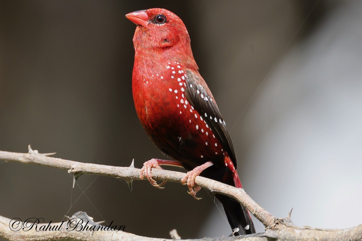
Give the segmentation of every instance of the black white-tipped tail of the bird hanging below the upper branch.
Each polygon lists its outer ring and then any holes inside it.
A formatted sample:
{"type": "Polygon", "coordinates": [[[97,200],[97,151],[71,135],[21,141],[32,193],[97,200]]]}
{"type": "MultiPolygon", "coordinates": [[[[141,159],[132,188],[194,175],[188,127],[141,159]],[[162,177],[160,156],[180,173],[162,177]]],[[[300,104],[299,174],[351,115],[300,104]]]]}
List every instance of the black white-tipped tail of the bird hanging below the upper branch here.
{"type": "Polygon", "coordinates": [[[230,197],[220,194],[215,194],[215,197],[222,203],[232,231],[236,230],[235,236],[256,233],[253,221],[245,207],[230,197]]]}

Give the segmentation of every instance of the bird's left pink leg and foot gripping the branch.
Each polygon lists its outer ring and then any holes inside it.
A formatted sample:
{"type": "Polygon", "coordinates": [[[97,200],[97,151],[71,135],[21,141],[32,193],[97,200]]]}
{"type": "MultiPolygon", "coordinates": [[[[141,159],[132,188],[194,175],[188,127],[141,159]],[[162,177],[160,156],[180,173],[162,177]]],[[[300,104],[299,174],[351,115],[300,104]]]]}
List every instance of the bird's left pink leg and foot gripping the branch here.
{"type": "Polygon", "coordinates": [[[175,166],[175,167],[182,167],[181,163],[176,161],[169,161],[169,160],[160,160],[152,158],[151,160],[143,163],[143,167],[141,168],[139,178],[141,180],[143,179],[143,176],[147,177],[148,181],[150,181],[151,185],[158,189],[164,189],[161,187],[166,183],[166,181],[161,182],[161,184],[157,184],[157,182],[152,178],[151,169],[157,168],[157,169],[163,169],[160,167],[160,165],[169,165],[169,166],[175,166]]]}

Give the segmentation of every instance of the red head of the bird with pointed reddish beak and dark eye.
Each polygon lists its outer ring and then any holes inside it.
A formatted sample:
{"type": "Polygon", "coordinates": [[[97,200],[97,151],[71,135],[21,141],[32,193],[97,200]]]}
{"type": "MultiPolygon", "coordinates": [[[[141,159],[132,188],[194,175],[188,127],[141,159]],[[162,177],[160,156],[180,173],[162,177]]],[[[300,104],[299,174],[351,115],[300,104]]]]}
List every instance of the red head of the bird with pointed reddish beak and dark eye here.
{"type": "Polygon", "coordinates": [[[191,57],[194,62],[189,33],[176,14],[163,8],[151,8],[128,13],[126,17],[137,24],[133,37],[136,55],[161,53],[167,59],[191,57]]]}

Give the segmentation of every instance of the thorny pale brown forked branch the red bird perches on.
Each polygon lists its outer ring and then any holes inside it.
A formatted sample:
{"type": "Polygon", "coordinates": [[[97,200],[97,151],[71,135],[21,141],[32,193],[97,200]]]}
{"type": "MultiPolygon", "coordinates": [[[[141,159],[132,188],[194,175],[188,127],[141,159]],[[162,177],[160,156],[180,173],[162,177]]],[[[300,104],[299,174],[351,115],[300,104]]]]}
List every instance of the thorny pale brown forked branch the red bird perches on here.
{"type": "MultiPolygon", "coordinates": [[[[0,151],[0,161],[2,160],[9,162],[20,162],[26,164],[32,163],[45,165],[47,167],[66,169],[69,173],[74,174],[75,180],[77,177],[83,174],[116,177],[126,180],[127,182],[131,182],[133,180],[140,180],[140,169],[134,168],[133,165],[131,165],[131,167],[113,167],[100,164],[81,163],[71,160],[63,160],[60,158],[49,157],[48,155],[51,154],[54,153],[39,154],[38,151],[32,150],[29,146],[29,153],[0,151]]],[[[156,180],[181,182],[181,179],[182,177],[184,177],[185,173],[153,168],[152,175],[153,178],[156,180]]],[[[362,240],[362,225],[349,229],[320,229],[310,227],[296,227],[291,222],[290,213],[286,218],[275,218],[275,216],[273,216],[260,205],[258,205],[247,193],[245,193],[244,189],[235,188],[233,186],[229,186],[221,182],[200,176],[195,178],[195,183],[196,185],[210,190],[213,193],[221,193],[236,199],[238,202],[243,204],[243,206],[246,207],[259,221],[261,221],[262,224],[264,224],[266,232],[247,236],[248,240],[249,238],[252,238],[253,240],[266,240],[266,238],[273,240],[362,240]]],[[[24,239],[25,237],[26,239],[28,239],[30,236],[33,240],[52,240],[64,238],[74,238],[76,240],[93,240],[93,238],[95,238],[95,235],[90,234],[92,236],[90,238],[85,234],[81,234],[81,232],[66,232],[68,236],[64,236],[65,234],[60,232],[37,232],[35,234],[30,234],[30,232],[16,232],[17,235],[9,238],[9,232],[10,234],[11,232],[13,232],[9,230],[9,221],[10,220],[7,218],[0,218],[0,237],[7,238],[8,240],[20,240],[21,238],[24,239]],[[74,236],[77,235],[77,233],[78,236],[74,236]],[[48,236],[45,237],[45,234],[48,236]]],[[[118,232],[121,233],[120,238],[122,238],[122,240],[127,240],[128,238],[137,238],[142,240],[160,240],[155,238],[135,236],[134,234],[125,233],[122,231],[118,232]]],[[[115,234],[113,232],[101,232],[99,235],[102,235],[102,239],[110,238],[107,235],[111,235],[112,238],[115,237],[115,234]]],[[[235,240],[240,238],[245,237],[223,237],[218,238],[218,240],[235,240]]],[[[208,238],[207,240],[213,239],[208,238]]]]}

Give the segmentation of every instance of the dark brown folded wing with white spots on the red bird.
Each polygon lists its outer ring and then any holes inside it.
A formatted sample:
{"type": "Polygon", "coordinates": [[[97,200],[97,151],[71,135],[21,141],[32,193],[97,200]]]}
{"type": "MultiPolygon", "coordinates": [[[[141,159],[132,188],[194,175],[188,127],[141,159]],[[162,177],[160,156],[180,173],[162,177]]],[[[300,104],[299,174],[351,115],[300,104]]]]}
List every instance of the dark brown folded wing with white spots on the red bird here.
{"type": "Polygon", "coordinates": [[[186,70],[186,75],[186,98],[199,112],[199,115],[204,117],[204,120],[226,150],[236,169],[237,164],[234,146],[232,145],[225,121],[220,114],[209,87],[207,87],[206,82],[199,73],[195,74],[191,70],[186,70]]]}

